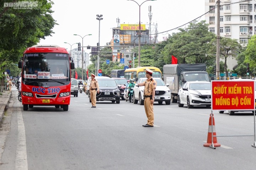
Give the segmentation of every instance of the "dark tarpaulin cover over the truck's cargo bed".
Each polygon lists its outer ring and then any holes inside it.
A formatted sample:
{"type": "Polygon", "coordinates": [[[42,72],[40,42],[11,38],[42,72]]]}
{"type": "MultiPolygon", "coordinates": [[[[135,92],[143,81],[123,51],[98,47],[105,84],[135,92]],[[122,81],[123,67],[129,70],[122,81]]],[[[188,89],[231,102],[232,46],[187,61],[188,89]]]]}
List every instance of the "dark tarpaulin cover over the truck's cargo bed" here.
{"type": "Polygon", "coordinates": [[[190,71],[204,71],[206,72],[206,64],[166,64],[163,67],[164,74],[177,74],[180,75],[181,72],[190,71]]]}

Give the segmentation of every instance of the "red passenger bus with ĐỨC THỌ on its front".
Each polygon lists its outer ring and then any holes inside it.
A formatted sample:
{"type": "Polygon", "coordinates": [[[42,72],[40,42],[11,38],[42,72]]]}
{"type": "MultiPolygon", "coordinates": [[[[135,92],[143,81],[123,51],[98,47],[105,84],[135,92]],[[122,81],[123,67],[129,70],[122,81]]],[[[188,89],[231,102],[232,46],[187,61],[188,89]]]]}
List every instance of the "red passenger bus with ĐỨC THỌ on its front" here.
{"type": "Polygon", "coordinates": [[[33,106],[55,106],[68,111],[73,59],[57,45],[34,45],[18,63],[21,71],[23,111],[33,106]]]}

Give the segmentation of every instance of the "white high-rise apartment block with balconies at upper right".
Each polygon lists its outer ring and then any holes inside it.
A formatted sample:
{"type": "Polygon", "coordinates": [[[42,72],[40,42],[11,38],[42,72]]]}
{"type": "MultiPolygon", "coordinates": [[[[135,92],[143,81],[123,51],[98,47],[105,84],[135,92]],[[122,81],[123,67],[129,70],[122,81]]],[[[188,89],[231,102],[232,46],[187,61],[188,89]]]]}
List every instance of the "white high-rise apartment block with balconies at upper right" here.
{"type": "MultiPolygon", "coordinates": [[[[210,24],[209,31],[214,34],[217,33],[216,2],[205,0],[205,11],[214,9],[205,15],[206,22],[210,24]]],[[[220,5],[220,36],[237,39],[245,46],[250,37],[256,34],[256,1],[223,0],[220,5]]],[[[232,70],[236,64],[236,60],[228,58],[228,69],[232,70]]]]}

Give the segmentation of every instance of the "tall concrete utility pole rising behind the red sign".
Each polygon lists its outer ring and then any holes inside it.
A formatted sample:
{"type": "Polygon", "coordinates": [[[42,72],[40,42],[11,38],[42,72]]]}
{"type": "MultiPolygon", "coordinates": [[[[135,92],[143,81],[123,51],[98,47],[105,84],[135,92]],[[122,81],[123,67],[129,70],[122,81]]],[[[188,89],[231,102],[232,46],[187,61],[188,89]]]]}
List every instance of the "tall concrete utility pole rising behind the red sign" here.
{"type": "Polygon", "coordinates": [[[217,1],[216,79],[220,78],[220,1],[217,1]]]}

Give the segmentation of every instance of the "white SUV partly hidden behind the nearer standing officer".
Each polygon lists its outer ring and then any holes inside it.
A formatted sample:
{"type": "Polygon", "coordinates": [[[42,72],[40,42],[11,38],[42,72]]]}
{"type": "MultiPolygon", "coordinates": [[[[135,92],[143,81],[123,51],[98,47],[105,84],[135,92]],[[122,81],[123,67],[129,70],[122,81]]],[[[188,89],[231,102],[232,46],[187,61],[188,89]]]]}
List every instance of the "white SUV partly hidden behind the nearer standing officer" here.
{"type": "MultiPolygon", "coordinates": [[[[140,78],[135,84],[133,88],[133,103],[137,104],[139,102],[140,105],[144,105],[144,87],[140,86],[138,87],[138,83],[143,83],[147,78],[140,78]]],[[[156,81],[156,90],[155,90],[155,102],[158,102],[159,104],[162,104],[162,102],[165,102],[165,104],[169,105],[171,104],[171,91],[167,87],[169,84],[164,83],[164,81],[161,78],[154,78],[156,81]]]]}

